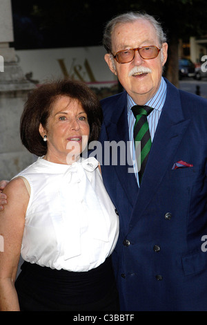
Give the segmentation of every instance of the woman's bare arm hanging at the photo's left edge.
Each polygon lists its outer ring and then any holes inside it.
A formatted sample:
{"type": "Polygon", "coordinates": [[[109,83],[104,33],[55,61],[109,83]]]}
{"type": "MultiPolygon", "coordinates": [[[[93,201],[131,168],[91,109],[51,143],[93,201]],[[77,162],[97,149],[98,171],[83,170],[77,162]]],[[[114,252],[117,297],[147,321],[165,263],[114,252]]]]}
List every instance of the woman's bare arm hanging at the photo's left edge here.
{"type": "Polygon", "coordinates": [[[3,252],[0,252],[0,310],[19,310],[14,281],[21,251],[29,194],[21,178],[11,180],[3,192],[8,197],[0,217],[0,235],[3,252]]]}

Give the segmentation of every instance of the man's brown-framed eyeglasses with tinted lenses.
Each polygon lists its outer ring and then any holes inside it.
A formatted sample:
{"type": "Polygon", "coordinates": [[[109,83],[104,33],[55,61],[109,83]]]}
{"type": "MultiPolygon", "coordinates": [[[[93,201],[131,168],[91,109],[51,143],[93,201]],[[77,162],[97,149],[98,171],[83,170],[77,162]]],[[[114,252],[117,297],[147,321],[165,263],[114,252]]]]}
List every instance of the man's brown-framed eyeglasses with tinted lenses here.
{"type": "Polygon", "coordinates": [[[126,50],[119,50],[113,57],[118,63],[128,63],[134,59],[135,50],[138,50],[142,59],[155,59],[155,57],[159,55],[161,48],[157,48],[157,46],[154,45],[141,46],[140,48],[127,48],[126,50]]]}

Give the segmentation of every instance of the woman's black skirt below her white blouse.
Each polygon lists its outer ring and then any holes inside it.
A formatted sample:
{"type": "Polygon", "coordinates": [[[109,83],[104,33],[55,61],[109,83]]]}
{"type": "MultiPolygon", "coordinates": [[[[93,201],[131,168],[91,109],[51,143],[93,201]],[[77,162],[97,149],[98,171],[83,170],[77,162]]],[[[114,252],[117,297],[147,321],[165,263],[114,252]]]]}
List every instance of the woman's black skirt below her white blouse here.
{"type": "Polygon", "coordinates": [[[15,288],[21,311],[119,311],[110,257],[88,272],[24,262],[15,288]]]}

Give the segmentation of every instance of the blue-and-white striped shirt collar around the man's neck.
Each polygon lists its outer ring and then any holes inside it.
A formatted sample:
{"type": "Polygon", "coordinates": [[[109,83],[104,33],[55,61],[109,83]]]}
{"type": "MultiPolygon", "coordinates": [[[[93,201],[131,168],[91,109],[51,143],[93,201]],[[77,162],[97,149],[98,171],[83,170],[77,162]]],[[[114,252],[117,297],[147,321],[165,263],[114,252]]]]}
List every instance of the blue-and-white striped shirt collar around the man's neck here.
{"type": "MultiPolygon", "coordinates": [[[[153,109],[157,109],[158,111],[161,111],[161,109],[164,106],[164,102],[166,100],[166,93],[167,93],[167,84],[164,80],[164,77],[161,77],[161,83],[159,85],[159,89],[157,93],[148,101],[146,102],[146,105],[152,107],[153,109]]],[[[127,109],[128,113],[132,106],[136,105],[134,100],[132,100],[132,97],[127,94],[127,109]]]]}

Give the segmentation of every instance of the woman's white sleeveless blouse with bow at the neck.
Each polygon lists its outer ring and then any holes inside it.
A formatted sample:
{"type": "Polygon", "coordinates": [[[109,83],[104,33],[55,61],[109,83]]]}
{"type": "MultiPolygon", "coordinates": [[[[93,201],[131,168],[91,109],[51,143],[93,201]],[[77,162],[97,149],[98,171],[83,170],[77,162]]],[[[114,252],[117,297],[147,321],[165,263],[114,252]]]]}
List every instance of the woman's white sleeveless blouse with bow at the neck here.
{"type": "Polygon", "coordinates": [[[97,160],[61,165],[38,158],[18,176],[26,178],[31,189],[23,259],[74,272],[103,263],[117,243],[119,220],[97,160]]]}

